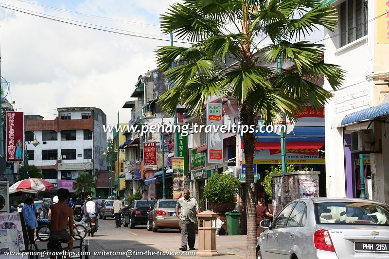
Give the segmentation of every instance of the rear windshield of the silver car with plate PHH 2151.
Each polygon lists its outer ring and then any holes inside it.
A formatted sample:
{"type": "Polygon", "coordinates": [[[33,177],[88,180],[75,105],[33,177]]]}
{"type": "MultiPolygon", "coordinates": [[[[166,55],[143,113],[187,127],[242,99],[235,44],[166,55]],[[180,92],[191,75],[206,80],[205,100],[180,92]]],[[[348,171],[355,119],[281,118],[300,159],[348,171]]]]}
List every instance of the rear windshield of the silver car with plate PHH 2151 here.
{"type": "Polygon", "coordinates": [[[315,204],[318,224],[389,225],[389,207],[369,202],[332,202],[315,204]]]}

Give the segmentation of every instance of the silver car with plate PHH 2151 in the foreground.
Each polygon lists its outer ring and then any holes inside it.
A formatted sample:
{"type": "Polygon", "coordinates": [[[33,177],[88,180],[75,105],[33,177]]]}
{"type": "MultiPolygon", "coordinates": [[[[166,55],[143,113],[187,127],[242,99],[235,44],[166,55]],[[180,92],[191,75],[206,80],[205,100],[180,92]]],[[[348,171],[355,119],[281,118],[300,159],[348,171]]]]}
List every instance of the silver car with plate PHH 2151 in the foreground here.
{"type": "Polygon", "coordinates": [[[298,199],[257,243],[260,259],[389,258],[389,206],[366,199],[298,199]]]}

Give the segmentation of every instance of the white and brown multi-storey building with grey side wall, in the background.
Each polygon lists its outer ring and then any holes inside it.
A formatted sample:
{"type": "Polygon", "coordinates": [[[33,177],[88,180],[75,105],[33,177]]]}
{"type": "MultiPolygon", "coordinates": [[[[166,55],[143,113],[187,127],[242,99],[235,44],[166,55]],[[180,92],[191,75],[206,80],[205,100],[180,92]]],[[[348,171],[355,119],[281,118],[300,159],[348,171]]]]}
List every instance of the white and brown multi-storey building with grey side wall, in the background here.
{"type": "Polygon", "coordinates": [[[96,186],[94,194],[106,196],[106,181],[98,180],[104,174],[99,173],[107,169],[106,157],[101,155],[106,150],[106,114],[95,107],[57,111],[54,120],[43,120],[40,115],[24,116],[28,163],[41,169],[44,179],[71,193],[75,178],[89,173],[103,184],[96,186]],[[36,147],[30,142],[35,138],[40,143],[36,147]]]}

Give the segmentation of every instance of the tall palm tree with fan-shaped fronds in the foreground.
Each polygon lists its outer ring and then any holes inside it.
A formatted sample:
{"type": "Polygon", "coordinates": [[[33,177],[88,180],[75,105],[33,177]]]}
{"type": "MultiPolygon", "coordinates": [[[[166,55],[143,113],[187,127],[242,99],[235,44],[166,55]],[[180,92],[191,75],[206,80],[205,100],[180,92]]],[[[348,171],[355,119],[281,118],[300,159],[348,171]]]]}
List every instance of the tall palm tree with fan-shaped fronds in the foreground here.
{"type": "MultiPolygon", "coordinates": [[[[276,121],[280,114],[296,118],[306,103],[321,107],[332,94],[318,86],[325,77],[336,90],[344,71],[322,62],[324,46],[301,41],[317,26],[335,30],[336,10],[320,0],[183,0],[161,15],[161,31],[173,32],[190,47],[156,50],[159,69],[172,88],[159,96],[165,112],[178,104],[202,115],[211,96],[231,96],[240,106],[240,121],[257,125],[276,121]],[[232,27],[232,29],[231,29],[232,27]],[[269,44],[260,47],[264,39],[269,44]],[[224,66],[226,57],[234,63],[224,66]],[[278,60],[293,69],[274,68],[278,60]],[[177,60],[177,66],[171,68],[177,60]]],[[[253,156],[255,138],[243,134],[246,159],[247,257],[255,257],[256,211],[253,156]]]]}

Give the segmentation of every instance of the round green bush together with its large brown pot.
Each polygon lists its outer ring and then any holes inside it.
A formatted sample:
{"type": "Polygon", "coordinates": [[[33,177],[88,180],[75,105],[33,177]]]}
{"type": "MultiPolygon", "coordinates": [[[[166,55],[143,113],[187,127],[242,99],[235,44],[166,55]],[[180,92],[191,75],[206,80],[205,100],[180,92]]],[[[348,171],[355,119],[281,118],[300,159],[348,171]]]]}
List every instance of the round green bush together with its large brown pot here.
{"type": "Polygon", "coordinates": [[[209,177],[204,187],[204,196],[211,203],[213,212],[232,211],[240,186],[240,181],[230,173],[215,173],[209,177]]]}

